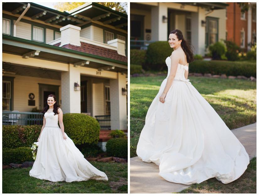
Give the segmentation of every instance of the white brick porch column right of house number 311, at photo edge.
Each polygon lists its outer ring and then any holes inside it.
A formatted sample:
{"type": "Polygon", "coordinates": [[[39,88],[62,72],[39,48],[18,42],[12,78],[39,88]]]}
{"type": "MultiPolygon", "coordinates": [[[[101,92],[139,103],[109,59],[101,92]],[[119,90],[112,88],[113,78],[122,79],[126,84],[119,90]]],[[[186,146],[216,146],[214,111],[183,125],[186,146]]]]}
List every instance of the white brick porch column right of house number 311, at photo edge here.
{"type": "Polygon", "coordinates": [[[117,80],[110,80],[111,130],[126,130],[127,101],[126,95],[122,95],[121,90],[126,87],[126,75],[117,74],[117,80]]]}

